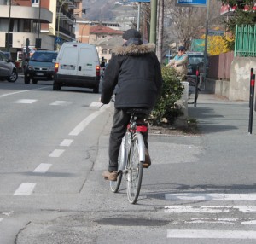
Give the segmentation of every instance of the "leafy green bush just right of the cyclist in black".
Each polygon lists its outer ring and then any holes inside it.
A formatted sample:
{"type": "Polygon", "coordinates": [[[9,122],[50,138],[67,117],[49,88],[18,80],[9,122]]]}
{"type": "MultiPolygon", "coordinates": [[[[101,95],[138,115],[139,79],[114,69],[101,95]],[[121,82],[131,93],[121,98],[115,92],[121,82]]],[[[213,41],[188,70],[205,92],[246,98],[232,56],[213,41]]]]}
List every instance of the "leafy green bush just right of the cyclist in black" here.
{"type": "Polygon", "coordinates": [[[161,96],[148,119],[152,125],[172,125],[178,116],[183,115],[183,109],[175,104],[183,94],[183,84],[177,78],[176,71],[170,67],[162,67],[162,77],[161,96]]]}

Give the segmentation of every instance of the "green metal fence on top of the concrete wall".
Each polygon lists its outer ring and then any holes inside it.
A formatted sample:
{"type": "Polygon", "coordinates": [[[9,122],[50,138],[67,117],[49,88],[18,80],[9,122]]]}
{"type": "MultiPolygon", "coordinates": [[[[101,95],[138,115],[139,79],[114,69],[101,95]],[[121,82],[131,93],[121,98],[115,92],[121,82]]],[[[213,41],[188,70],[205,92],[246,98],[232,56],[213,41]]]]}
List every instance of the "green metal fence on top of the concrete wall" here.
{"type": "Polygon", "coordinates": [[[236,25],[235,56],[256,56],[256,25],[236,25]]]}

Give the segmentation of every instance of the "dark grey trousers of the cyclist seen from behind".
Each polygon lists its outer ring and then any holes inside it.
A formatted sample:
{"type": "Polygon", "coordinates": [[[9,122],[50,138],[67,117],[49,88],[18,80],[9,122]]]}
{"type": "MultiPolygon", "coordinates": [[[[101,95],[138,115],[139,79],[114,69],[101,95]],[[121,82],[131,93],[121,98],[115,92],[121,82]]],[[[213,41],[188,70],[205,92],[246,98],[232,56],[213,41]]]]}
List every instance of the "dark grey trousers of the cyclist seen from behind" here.
{"type": "MultiPolygon", "coordinates": [[[[119,158],[119,148],[122,143],[122,138],[125,136],[127,125],[130,122],[131,115],[126,113],[127,109],[115,108],[113,113],[113,125],[109,137],[109,165],[108,171],[118,171],[118,158],[119,158]]],[[[146,119],[146,115],[138,119],[146,119]]],[[[145,143],[145,147],[148,148],[148,131],[142,133],[145,143]]]]}

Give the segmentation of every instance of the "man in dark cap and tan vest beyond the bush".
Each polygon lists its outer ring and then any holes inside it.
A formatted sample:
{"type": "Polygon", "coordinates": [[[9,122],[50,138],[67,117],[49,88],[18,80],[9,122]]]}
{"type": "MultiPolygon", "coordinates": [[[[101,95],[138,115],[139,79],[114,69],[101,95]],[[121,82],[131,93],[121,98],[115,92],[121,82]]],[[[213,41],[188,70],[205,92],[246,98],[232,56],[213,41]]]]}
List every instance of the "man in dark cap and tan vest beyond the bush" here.
{"type": "Polygon", "coordinates": [[[177,49],[177,55],[171,61],[169,61],[166,67],[174,67],[180,80],[185,80],[188,73],[188,63],[189,57],[186,54],[186,49],[184,46],[180,46],[177,49]]]}

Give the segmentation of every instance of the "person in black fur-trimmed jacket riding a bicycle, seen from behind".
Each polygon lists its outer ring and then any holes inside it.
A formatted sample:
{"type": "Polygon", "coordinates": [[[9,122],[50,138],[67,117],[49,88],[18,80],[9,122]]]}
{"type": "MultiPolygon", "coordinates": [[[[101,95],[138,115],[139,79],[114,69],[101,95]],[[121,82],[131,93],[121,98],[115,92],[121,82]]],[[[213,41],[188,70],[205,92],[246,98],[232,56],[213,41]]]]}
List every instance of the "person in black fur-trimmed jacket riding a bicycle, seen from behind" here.
{"type": "MultiPolygon", "coordinates": [[[[123,39],[123,46],[113,49],[102,82],[102,103],[108,104],[115,93],[108,171],[102,174],[111,181],[117,179],[119,148],[130,121],[127,108],[146,108],[149,114],[160,95],[162,85],[160,63],[154,53],[155,45],[143,44],[140,32],[135,29],[124,32],[123,39]]],[[[144,167],[148,167],[151,165],[148,133],[143,137],[146,151],[144,167]]]]}

